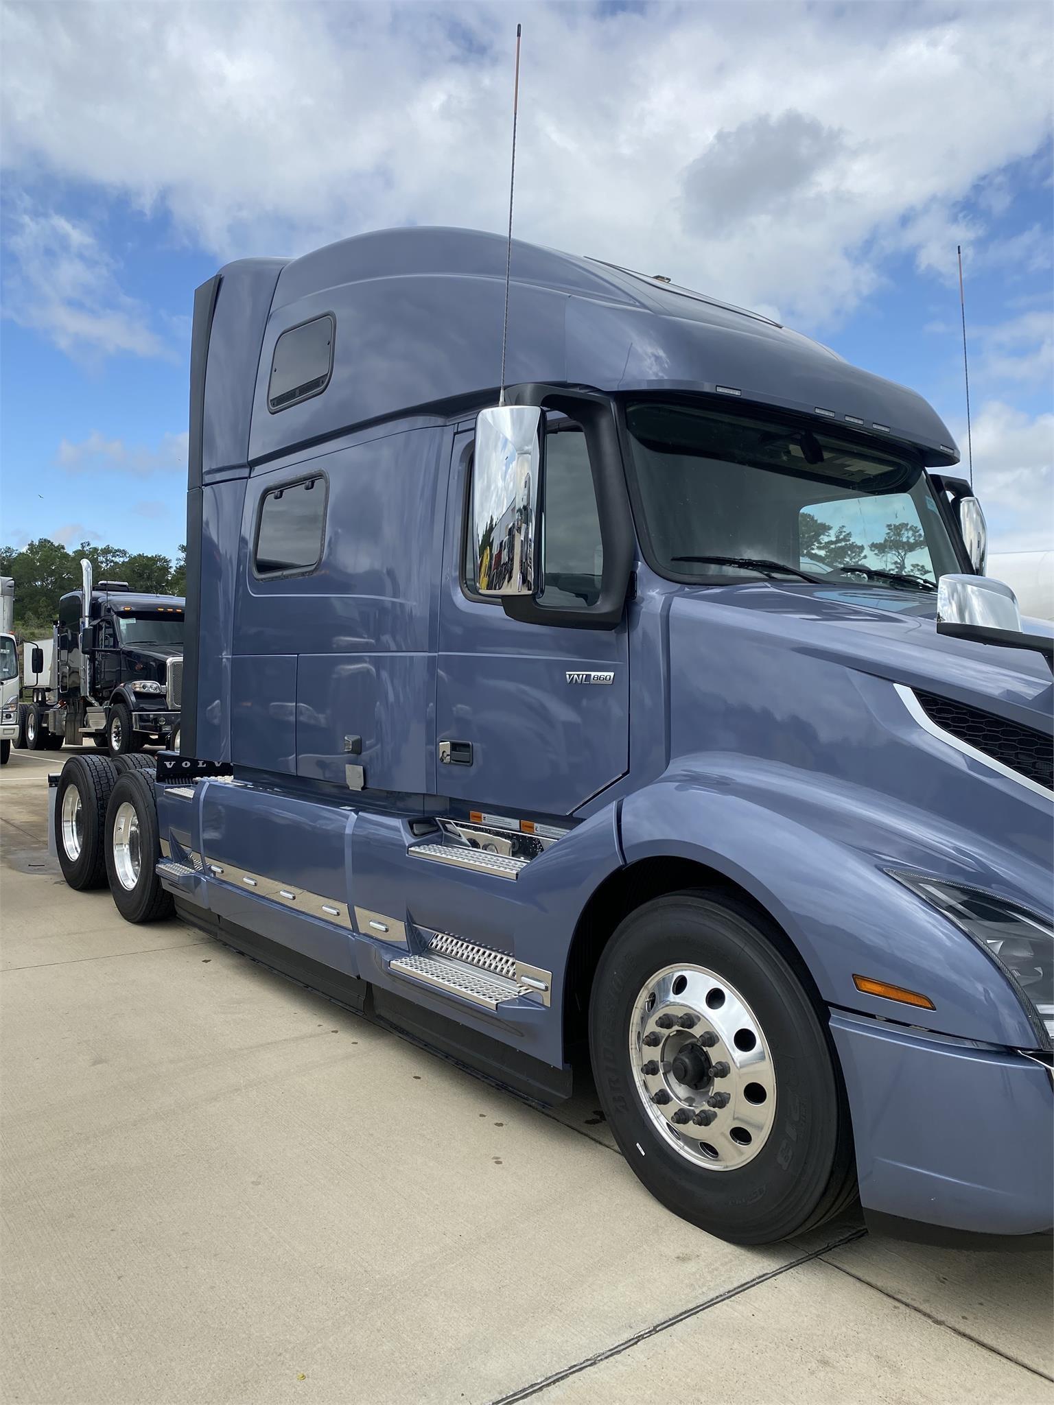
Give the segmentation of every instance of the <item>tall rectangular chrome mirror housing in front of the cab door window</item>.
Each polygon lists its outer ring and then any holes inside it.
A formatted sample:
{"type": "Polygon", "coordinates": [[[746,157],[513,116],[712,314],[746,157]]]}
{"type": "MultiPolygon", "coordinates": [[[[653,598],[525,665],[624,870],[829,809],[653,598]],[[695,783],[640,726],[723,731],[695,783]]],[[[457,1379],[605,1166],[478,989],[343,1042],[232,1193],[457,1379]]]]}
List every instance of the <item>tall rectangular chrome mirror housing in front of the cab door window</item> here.
{"type": "Polygon", "coordinates": [[[472,551],[482,596],[533,596],[538,579],[541,409],[496,405],[476,417],[472,551]]]}

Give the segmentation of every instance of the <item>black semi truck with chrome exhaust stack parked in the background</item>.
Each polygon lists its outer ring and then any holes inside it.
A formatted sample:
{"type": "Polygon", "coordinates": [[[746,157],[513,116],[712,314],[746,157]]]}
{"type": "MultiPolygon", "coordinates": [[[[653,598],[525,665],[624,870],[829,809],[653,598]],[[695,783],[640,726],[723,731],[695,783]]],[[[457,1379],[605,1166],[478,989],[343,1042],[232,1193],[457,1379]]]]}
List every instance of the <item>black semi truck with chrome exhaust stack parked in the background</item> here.
{"type": "Polygon", "coordinates": [[[51,649],[27,643],[20,743],[58,750],[89,738],[111,756],[146,742],[178,749],[183,672],[181,596],[146,596],[100,580],[82,561],[83,584],[59,600],[51,649]]]}

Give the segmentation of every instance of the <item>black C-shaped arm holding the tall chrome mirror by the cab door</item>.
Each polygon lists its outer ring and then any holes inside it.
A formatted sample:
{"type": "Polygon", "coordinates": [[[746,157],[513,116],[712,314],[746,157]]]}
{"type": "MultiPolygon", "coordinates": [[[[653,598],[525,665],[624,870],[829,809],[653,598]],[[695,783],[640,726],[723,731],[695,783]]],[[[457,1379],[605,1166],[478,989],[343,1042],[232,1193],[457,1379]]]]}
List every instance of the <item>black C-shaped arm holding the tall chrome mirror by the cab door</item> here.
{"type": "Polygon", "coordinates": [[[572,391],[538,382],[509,386],[505,399],[507,405],[538,405],[542,409],[562,410],[582,426],[593,472],[604,565],[600,573],[600,597],[594,606],[547,607],[533,597],[506,596],[502,607],[510,620],[523,624],[549,624],[564,629],[616,629],[621,624],[630,589],[634,528],[614,403],[599,391],[572,391]]]}

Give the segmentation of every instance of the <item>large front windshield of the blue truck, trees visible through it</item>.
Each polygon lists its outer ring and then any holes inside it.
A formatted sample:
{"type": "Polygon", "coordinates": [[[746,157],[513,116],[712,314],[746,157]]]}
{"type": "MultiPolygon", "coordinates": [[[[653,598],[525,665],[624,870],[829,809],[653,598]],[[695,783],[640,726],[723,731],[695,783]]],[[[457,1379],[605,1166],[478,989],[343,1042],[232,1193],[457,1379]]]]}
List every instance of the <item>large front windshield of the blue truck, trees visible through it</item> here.
{"type": "Polygon", "coordinates": [[[631,405],[644,530],[663,575],[932,590],[958,570],[923,471],[881,447],[687,405],[631,405]]]}

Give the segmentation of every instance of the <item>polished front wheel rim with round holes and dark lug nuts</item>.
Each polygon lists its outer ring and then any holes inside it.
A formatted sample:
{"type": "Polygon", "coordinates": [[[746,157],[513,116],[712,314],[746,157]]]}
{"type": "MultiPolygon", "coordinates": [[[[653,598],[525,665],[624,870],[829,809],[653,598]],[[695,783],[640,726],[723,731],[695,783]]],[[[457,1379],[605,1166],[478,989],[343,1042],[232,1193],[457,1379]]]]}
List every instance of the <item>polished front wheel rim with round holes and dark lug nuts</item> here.
{"type": "Polygon", "coordinates": [[[776,1069],[765,1031],[722,976],[663,967],[630,1016],[630,1066],[668,1146],[705,1170],[736,1170],[776,1121],[776,1069]]]}

